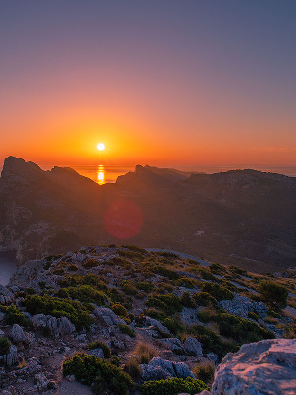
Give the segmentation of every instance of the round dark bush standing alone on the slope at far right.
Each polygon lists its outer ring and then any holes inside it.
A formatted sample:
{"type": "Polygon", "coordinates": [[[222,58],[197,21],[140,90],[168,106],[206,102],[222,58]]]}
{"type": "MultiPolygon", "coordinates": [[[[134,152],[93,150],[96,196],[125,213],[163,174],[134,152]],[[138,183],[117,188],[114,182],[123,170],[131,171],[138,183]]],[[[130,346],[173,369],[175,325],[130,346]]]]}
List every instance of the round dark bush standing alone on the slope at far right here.
{"type": "Polygon", "coordinates": [[[274,281],[262,281],[258,292],[264,302],[274,310],[284,309],[287,306],[288,289],[274,281]]]}

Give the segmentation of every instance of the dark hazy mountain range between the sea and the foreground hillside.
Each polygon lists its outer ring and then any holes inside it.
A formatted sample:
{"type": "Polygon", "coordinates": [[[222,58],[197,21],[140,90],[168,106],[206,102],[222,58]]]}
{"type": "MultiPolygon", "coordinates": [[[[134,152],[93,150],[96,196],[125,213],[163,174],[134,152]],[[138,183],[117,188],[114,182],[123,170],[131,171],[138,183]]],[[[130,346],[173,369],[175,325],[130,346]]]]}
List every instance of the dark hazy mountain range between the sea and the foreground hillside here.
{"type": "Polygon", "coordinates": [[[189,174],[136,166],[98,185],[73,169],[9,157],[0,178],[1,248],[20,262],[84,244],[129,243],[255,272],[295,264],[296,178],[252,169],[189,174]]]}

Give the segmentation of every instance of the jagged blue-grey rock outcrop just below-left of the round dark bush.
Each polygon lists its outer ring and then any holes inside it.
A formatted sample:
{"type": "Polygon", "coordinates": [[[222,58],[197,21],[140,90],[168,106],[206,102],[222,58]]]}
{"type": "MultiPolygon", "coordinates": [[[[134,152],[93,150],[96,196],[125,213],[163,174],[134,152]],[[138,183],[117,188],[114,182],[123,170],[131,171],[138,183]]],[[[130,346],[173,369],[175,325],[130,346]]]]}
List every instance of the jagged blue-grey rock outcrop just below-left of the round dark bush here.
{"type": "Polygon", "coordinates": [[[234,294],[232,300],[222,300],[220,306],[230,314],[241,318],[248,318],[249,312],[255,312],[264,319],[267,317],[267,307],[263,302],[254,302],[247,296],[234,294]]]}

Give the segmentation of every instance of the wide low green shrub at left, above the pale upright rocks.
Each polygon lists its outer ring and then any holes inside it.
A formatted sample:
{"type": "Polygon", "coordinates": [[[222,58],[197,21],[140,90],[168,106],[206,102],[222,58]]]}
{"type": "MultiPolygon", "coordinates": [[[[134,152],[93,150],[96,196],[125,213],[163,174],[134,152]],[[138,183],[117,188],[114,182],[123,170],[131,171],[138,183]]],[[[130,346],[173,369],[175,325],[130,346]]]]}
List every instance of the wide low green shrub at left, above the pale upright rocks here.
{"type": "Polygon", "coordinates": [[[52,296],[27,295],[24,301],[27,311],[31,314],[51,314],[54,317],[67,317],[76,329],[88,328],[93,323],[88,309],[81,302],[60,299],[52,296]]]}

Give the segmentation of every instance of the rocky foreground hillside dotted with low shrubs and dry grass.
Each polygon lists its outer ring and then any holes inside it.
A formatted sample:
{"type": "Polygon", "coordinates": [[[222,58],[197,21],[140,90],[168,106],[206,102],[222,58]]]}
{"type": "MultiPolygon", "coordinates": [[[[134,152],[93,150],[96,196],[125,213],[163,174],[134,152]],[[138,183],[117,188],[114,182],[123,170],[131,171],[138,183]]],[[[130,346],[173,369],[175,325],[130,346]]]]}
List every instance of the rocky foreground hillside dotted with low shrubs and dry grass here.
{"type": "MultiPolygon", "coordinates": [[[[174,377],[197,377],[211,387],[216,368],[213,395],[232,394],[232,388],[233,394],[292,395],[296,323],[256,295],[266,279],[293,295],[293,278],[218,264],[204,268],[134,246],[91,245],[28,261],[7,288],[0,286],[2,350],[9,339],[0,355],[0,394],[90,394],[75,374],[63,378],[62,370],[79,352],[110,360],[102,348],[90,347],[96,341],[132,375],[131,393],[142,394],[145,382],[174,377]],[[149,357],[139,345],[150,348],[149,357]],[[227,352],[236,354],[222,359],[227,352]],[[281,381],[274,385],[272,377],[281,381]],[[259,378],[270,381],[270,392],[261,390],[259,378]]],[[[294,306],[295,298],[288,303],[294,306]]]]}

